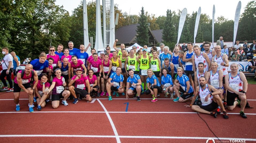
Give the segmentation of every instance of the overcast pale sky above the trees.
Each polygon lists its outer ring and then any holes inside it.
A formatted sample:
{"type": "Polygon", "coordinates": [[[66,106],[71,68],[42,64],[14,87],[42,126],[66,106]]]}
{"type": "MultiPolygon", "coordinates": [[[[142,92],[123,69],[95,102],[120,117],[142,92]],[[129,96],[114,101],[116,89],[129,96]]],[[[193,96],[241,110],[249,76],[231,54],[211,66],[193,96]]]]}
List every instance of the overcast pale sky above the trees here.
{"type": "MultiPolygon", "coordinates": [[[[64,9],[72,14],[72,11],[80,5],[82,0],[56,0],[57,5],[63,5],[64,9]]],[[[95,0],[87,0],[89,1],[95,0]]],[[[109,0],[110,1],[110,0],[109,0]]],[[[241,12],[250,0],[241,1],[242,7],[241,12]]],[[[228,20],[234,20],[235,10],[238,4],[238,0],[114,0],[115,4],[118,4],[118,9],[122,12],[127,12],[128,14],[138,15],[141,11],[141,7],[144,7],[145,11],[149,14],[155,14],[156,17],[166,15],[167,9],[171,11],[178,11],[178,9],[183,10],[187,8],[188,14],[192,14],[193,11],[197,11],[201,7],[201,13],[206,13],[210,18],[212,18],[212,7],[215,5],[215,19],[219,16],[224,16],[228,20]]],[[[102,0],[101,0],[102,3],[102,0]]]]}

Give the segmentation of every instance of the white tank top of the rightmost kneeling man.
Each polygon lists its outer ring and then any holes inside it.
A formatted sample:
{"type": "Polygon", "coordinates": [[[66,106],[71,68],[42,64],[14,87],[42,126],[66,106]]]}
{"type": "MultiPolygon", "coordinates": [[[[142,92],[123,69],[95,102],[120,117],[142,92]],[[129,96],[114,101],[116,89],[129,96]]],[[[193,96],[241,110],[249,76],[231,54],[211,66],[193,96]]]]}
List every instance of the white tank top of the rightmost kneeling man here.
{"type": "MultiPolygon", "coordinates": [[[[229,73],[229,79],[228,79],[228,82],[229,82],[229,86],[239,92],[239,91],[242,91],[243,90],[243,82],[240,78],[240,75],[239,75],[239,72],[237,72],[237,75],[235,77],[231,77],[231,73],[229,73]]],[[[229,91],[229,90],[228,90],[229,91]]],[[[231,93],[234,93],[232,91],[229,91],[231,93]]]]}

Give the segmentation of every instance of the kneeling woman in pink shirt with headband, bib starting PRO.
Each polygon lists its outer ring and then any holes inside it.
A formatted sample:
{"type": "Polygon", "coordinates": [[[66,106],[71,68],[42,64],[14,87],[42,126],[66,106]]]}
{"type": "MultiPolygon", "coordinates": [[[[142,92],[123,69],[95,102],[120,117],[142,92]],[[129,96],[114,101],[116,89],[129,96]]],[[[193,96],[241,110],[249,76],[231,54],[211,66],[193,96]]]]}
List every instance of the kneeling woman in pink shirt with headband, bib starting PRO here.
{"type": "MultiPolygon", "coordinates": [[[[69,97],[70,92],[68,90],[65,90],[65,87],[67,86],[67,83],[65,82],[64,77],[61,76],[61,70],[60,68],[54,68],[54,73],[56,77],[52,80],[52,85],[49,88],[49,92],[52,91],[52,107],[58,108],[60,105],[60,98],[63,98],[62,104],[65,106],[68,105],[66,99],[69,97]]],[[[47,95],[47,92],[44,92],[45,95],[47,95]]]]}

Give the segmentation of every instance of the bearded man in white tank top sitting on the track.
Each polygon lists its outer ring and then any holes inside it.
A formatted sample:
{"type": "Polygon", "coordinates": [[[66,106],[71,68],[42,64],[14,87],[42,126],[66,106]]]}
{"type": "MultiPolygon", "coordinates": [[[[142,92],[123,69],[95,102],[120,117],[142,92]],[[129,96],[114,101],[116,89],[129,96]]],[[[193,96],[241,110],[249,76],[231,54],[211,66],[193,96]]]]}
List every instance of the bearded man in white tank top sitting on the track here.
{"type": "Polygon", "coordinates": [[[213,86],[206,84],[206,79],[203,76],[199,78],[199,83],[200,83],[200,86],[196,87],[195,96],[193,96],[191,104],[185,105],[185,106],[191,107],[192,110],[196,112],[210,114],[216,118],[217,112],[211,112],[211,111],[215,110],[219,105],[223,111],[223,118],[228,119],[227,112],[222,104],[222,99],[220,99],[220,96],[219,96],[221,92],[218,89],[214,88],[213,86]],[[201,99],[201,103],[202,103],[201,105],[195,104],[195,100],[198,94],[201,99]]]}

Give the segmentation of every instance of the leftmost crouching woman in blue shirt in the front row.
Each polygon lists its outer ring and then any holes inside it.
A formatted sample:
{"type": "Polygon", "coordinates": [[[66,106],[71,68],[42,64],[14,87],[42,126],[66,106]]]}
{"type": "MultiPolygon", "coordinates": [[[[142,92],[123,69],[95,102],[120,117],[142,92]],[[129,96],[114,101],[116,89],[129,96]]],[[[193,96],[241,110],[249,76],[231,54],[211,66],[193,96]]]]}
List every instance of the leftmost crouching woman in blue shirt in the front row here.
{"type": "MultiPolygon", "coordinates": [[[[123,89],[123,75],[121,74],[122,68],[117,67],[116,72],[112,73],[107,81],[107,96],[108,100],[112,100],[111,96],[111,90],[117,91],[118,93],[122,93],[124,91],[123,89]],[[121,85],[121,86],[120,86],[121,85]]],[[[118,93],[116,93],[116,96],[118,97],[118,93]]]]}

